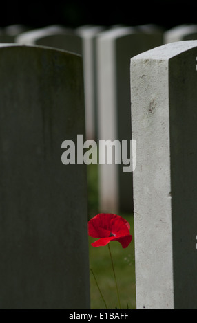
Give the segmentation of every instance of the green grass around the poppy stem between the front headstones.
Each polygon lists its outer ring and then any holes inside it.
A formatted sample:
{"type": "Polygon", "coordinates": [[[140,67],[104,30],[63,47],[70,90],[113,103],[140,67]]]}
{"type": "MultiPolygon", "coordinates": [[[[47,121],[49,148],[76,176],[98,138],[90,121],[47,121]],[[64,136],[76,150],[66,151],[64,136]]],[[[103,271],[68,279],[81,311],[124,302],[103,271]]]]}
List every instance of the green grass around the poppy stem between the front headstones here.
{"type": "MultiPolygon", "coordinates": [[[[87,166],[88,179],[88,216],[91,218],[100,213],[98,209],[98,165],[87,166]]],[[[109,210],[110,212],[110,210],[109,210]]],[[[121,309],[136,309],[135,291],[135,263],[134,263],[134,216],[133,214],[118,214],[123,216],[131,225],[130,232],[133,236],[129,247],[123,249],[118,241],[110,243],[114,261],[114,269],[121,299],[121,309]]],[[[116,285],[112,271],[110,254],[107,246],[92,247],[95,238],[89,237],[90,268],[94,271],[98,285],[103,293],[103,298],[108,309],[118,308],[116,285]]],[[[94,276],[90,272],[90,300],[91,309],[105,309],[105,304],[96,286],[94,276]]]]}

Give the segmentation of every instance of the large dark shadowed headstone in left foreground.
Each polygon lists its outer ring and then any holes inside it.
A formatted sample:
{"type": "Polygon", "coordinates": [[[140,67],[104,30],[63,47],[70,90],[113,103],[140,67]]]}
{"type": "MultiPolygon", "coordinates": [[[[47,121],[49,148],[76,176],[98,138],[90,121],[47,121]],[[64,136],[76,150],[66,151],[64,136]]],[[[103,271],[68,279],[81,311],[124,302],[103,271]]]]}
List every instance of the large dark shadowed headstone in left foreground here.
{"type": "Polygon", "coordinates": [[[81,56],[0,45],[0,307],[88,309],[87,185],[61,162],[85,135],[81,56]]]}

